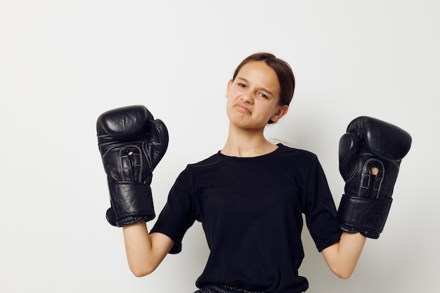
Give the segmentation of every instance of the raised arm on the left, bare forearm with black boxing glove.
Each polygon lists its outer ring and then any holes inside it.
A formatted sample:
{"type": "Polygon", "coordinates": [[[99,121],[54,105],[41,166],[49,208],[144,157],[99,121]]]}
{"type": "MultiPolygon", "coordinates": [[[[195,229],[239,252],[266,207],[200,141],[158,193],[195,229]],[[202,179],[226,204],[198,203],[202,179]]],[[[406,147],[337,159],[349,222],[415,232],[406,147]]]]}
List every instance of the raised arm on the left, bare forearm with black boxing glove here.
{"type": "Polygon", "coordinates": [[[131,271],[146,275],[174,244],[166,235],[149,235],[145,224],[155,218],[150,183],[168,147],[167,127],[147,108],[135,105],[104,112],[96,131],[110,191],[107,220],[123,227],[131,271]]]}

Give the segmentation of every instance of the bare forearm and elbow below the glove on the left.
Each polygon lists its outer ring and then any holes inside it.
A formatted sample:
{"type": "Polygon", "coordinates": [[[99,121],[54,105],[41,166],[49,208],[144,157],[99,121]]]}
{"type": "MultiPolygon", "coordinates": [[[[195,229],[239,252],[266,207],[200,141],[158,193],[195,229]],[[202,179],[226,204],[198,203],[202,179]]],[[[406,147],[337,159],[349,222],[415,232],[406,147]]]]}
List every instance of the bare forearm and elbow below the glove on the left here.
{"type": "Polygon", "coordinates": [[[136,277],[152,273],[174,245],[167,235],[148,234],[143,220],[124,226],[123,232],[129,268],[136,277]]]}

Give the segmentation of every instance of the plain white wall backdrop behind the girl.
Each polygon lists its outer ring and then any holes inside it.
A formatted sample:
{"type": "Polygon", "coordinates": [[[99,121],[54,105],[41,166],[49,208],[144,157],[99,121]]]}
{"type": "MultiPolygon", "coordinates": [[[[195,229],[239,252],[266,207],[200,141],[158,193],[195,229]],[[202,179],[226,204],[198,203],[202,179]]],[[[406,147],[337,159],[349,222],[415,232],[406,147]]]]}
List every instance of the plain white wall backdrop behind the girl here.
{"type": "Polygon", "coordinates": [[[315,152],[336,204],[351,119],[413,137],[384,232],[349,280],[332,275],[304,228],[308,292],[439,292],[439,30],[436,0],[1,0],[0,292],[194,292],[208,255],[200,223],[153,274],[129,271],[122,230],[105,220],[96,118],[141,104],[167,124],[158,214],[186,164],[223,147],[227,82],[258,51],[297,79],[290,112],[266,136],[315,152]]]}

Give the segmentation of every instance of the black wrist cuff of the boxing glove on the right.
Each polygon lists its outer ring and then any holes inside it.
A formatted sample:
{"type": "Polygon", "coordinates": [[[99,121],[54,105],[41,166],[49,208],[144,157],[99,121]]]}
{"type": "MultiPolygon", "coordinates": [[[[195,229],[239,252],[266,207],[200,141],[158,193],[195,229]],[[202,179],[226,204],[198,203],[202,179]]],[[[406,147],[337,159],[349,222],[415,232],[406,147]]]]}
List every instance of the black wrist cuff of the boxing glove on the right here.
{"type": "Polygon", "coordinates": [[[342,195],[337,220],[339,228],[349,233],[360,232],[377,239],[384,229],[392,198],[350,197],[342,195]]]}

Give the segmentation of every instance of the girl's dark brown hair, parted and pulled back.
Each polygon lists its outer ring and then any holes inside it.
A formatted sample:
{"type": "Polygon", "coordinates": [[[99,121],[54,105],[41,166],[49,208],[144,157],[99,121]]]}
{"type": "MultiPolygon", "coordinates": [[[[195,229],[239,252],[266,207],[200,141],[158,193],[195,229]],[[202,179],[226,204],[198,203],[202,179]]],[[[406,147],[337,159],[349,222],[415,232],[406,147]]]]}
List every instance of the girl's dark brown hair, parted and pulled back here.
{"type": "Polygon", "coordinates": [[[252,61],[264,61],[266,65],[275,70],[278,82],[280,83],[280,105],[289,105],[295,91],[295,76],[290,65],[284,60],[276,58],[272,53],[254,53],[245,58],[245,60],[242,60],[240,65],[235,68],[233,80],[237,77],[241,67],[252,61]]]}

